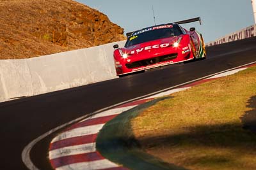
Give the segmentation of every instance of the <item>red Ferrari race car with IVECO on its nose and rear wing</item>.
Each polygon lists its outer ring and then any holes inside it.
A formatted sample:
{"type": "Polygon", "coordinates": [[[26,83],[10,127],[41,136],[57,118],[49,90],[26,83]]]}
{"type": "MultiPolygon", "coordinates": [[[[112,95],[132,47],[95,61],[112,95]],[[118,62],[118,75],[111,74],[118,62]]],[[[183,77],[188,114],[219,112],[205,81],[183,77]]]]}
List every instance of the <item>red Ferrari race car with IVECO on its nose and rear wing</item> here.
{"type": "Polygon", "coordinates": [[[114,45],[116,74],[122,76],[153,67],[205,59],[202,34],[195,31],[195,27],[188,31],[180,26],[195,21],[201,24],[198,17],[127,33],[124,48],[114,45]]]}

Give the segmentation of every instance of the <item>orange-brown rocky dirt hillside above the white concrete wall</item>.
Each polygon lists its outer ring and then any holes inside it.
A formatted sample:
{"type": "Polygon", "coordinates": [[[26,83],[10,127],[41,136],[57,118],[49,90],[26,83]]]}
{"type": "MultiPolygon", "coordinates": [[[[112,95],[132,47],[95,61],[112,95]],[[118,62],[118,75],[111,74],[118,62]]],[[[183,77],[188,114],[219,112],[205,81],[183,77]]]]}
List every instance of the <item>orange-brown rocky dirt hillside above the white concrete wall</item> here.
{"type": "Polygon", "coordinates": [[[125,39],[124,29],[72,0],[0,0],[0,59],[23,59],[125,39]]]}

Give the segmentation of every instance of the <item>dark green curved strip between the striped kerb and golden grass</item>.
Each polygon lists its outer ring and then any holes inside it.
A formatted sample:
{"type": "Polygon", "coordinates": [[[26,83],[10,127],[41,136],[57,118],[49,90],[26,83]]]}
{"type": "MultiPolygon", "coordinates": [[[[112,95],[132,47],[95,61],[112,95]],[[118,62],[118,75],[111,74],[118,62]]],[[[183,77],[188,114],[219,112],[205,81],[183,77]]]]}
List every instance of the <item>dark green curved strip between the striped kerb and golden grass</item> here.
{"type": "Polygon", "coordinates": [[[186,170],[183,167],[168,164],[156,157],[152,157],[152,155],[148,155],[143,150],[140,150],[140,145],[134,140],[131,130],[131,118],[136,117],[143,110],[163,99],[155,99],[136,106],[107,122],[97,136],[97,151],[106,159],[128,169],[186,170]]]}

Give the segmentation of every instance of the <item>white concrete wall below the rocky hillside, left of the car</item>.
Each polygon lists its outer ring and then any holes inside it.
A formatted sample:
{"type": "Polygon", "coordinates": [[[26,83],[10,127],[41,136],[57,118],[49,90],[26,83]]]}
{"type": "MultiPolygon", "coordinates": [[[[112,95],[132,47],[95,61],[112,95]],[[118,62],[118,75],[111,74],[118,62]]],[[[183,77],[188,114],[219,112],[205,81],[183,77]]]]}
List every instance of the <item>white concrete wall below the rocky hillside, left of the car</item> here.
{"type": "Polygon", "coordinates": [[[0,102],[117,78],[113,45],[20,60],[0,60],[0,102]]]}

